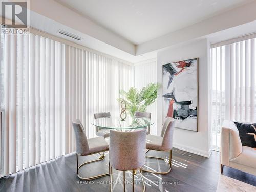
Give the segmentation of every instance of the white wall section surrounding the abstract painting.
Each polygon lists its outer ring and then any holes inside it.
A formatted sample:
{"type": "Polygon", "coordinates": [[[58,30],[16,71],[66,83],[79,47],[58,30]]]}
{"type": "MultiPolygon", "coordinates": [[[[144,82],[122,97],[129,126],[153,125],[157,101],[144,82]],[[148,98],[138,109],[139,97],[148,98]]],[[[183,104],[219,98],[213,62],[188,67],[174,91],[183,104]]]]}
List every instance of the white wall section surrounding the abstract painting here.
{"type": "MultiPolygon", "coordinates": [[[[208,126],[208,88],[209,88],[209,42],[207,39],[190,42],[188,45],[176,46],[161,51],[157,56],[157,81],[162,83],[162,65],[170,62],[199,58],[199,103],[198,132],[175,129],[174,147],[181,150],[209,157],[210,126],[208,126]]],[[[157,99],[158,135],[162,127],[162,88],[157,99]]]]}

